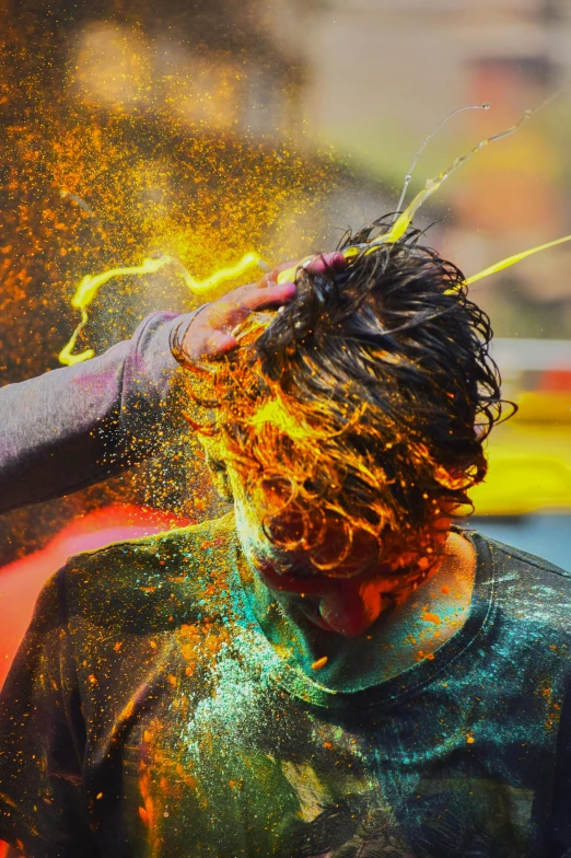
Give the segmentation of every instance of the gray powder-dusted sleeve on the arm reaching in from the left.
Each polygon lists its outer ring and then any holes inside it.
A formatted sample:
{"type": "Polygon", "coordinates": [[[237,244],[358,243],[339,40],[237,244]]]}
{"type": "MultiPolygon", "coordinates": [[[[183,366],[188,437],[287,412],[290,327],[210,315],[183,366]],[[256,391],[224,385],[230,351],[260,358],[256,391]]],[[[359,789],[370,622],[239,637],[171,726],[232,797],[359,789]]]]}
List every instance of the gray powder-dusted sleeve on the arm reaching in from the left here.
{"type": "Polygon", "coordinates": [[[0,389],[0,513],[153,455],[152,430],[178,368],[170,335],[179,322],[153,313],[100,357],[0,389]]]}

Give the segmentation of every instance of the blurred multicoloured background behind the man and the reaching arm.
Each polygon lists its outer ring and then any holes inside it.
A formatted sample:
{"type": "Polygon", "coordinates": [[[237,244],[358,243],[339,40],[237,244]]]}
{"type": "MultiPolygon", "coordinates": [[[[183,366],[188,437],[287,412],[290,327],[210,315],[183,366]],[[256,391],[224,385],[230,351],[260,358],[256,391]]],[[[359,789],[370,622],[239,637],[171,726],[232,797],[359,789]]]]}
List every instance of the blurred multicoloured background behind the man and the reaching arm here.
{"type": "MultiPolygon", "coordinates": [[[[408,199],[571,79],[564,0],[0,0],[0,16],[3,384],[59,366],[85,275],[167,253],[203,278],[252,250],[270,264],[330,250],[396,208],[451,111],[491,105],[442,129],[408,199]]],[[[469,276],[571,232],[570,144],[571,85],[441,187],[418,219],[427,242],[469,276]]],[[[474,524],[566,569],[570,264],[562,245],[473,289],[521,405],[490,441],[474,524]]],[[[199,303],[166,268],[116,278],[78,350],[199,303]]],[[[156,461],[0,518],[3,666],[67,555],[219,509],[174,425],[156,461]]]]}

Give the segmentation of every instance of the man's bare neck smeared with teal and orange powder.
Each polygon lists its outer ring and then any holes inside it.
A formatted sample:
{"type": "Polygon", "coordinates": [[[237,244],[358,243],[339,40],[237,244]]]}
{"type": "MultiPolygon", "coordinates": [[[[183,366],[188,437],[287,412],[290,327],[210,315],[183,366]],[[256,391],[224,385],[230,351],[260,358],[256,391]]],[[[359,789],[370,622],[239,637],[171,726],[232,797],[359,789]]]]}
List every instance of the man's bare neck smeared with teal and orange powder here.
{"type": "Polygon", "coordinates": [[[358,691],[430,658],[462,628],[474,573],[471,543],[451,533],[433,575],[404,595],[383,594],[378,618],[358,637],[326,631],[307,619],[306,614],[315,612],[312,593],[292,599],[249,571],[243,575],[243,583],[261,628],[288,663],[333,689],[358,691]]]}

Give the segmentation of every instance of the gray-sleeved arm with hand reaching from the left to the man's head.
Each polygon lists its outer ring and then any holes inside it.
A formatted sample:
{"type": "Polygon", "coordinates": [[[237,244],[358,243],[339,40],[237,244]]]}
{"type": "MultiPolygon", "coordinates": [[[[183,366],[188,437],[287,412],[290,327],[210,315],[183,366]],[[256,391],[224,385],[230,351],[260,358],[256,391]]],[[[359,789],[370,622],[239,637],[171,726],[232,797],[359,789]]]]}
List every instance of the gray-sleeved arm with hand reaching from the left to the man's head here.
{"type": "MultiPolygon", "coordinates": [[[[183,366],[235,348],[232,331],[248,313],[292,300],[294,283],[277,282],[292,265],[188,316],[153,313],[130,340],[85,363],[1,387],[0,514],[91,486],[152,456],[153,429],[163,418],[177,367],[173,334],[183,366]]],[[[345,265],[342,255],[333,253],[315,257],[311,268],[345,265]]]]}

